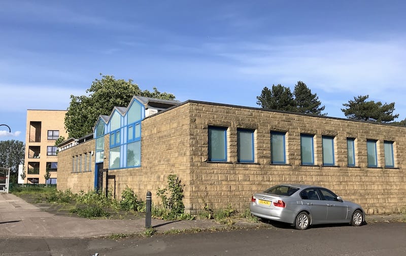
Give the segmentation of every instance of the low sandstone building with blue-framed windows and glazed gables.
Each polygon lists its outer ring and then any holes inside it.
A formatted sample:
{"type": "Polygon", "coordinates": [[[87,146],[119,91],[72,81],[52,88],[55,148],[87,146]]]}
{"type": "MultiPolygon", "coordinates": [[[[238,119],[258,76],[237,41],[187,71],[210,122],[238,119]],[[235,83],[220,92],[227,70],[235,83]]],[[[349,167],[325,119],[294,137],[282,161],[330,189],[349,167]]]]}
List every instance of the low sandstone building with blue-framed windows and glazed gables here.
{"type": "Polygon", "coordinates": [[[58,190],[128,186],[145,199],[176,174],[186,210],[246,209],[284,183],[331,189],[367,214],[406,210],[406,127],[263,108],[134,96],[93,139],[59,152],[58,190]],[[152,114],[152,115],[150,115],[152,114]]]}

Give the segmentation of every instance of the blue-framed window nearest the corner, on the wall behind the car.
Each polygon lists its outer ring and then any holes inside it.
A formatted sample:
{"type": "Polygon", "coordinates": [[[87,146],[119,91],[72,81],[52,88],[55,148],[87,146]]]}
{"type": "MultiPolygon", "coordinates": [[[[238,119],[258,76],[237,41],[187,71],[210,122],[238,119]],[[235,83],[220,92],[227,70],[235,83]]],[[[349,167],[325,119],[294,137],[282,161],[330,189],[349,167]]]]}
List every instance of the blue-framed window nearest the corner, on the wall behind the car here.
{"type": "Polygon", "coordinates": [[[227,161],[227,129],[209,127],[209,161],[227,161]]]}

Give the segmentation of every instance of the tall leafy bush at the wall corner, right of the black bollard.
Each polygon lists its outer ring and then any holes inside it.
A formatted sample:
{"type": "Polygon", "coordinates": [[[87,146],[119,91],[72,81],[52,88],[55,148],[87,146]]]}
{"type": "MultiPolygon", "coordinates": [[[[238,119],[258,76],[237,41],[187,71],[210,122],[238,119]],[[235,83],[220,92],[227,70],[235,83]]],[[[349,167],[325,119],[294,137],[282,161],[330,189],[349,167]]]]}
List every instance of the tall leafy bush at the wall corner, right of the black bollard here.
{"type": "Polygon", "coordinates": [[[167,177],[168,187],[157,189],[157,196],[161,198],[162,208],[153,207],[151,213],[156,217],[161,217],[164,220],[176,220],[185,211],[183,204],[183,187],[181,180],[175,175],[170,174],[167,177]]]}

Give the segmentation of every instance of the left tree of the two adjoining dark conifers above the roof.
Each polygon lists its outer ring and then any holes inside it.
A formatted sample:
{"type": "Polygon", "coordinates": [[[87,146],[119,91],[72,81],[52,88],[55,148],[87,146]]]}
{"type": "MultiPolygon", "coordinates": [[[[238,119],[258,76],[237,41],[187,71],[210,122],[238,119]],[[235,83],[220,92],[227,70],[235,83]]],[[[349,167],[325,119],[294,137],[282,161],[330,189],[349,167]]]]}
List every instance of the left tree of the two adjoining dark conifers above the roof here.
{"type": "Polygon", "coordinates": [[[267,87],[262,89],[261,95],[257,96],[257,104],[263,108],[282,111],[295,111],[296,104],[289,87],[273,85],[272,90],[267,87]]]}

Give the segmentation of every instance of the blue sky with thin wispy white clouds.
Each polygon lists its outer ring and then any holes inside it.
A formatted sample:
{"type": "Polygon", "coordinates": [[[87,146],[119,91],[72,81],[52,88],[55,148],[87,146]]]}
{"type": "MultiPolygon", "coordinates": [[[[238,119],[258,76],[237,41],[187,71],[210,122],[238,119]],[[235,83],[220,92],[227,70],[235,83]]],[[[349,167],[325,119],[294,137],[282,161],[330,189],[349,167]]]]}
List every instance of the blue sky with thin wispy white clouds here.
{"type": "Polygon", "coordinates": [[[99,74],[176,99],[258,107],[303,81],[331,117],[358,95],[406,118],[404,1],[0,0],[0,140],[99,74]]]}

